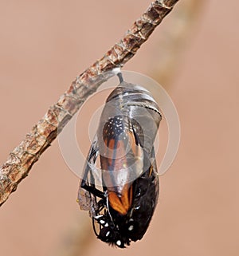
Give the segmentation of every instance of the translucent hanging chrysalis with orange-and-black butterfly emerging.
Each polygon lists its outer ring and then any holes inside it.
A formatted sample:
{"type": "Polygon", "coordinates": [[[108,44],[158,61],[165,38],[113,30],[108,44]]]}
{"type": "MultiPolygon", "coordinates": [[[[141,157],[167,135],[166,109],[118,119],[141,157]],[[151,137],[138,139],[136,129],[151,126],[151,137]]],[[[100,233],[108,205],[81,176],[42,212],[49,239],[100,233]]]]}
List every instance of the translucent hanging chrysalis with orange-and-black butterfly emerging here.
{"type": "Polygon", "coordinates": [[[123,81],[121,73],[118,77],[100,116],[77,201],[89,211],[96,237],[124,248],[143,238],[158,201],[154,142],[162,116],[151,93],[123,81]]]}

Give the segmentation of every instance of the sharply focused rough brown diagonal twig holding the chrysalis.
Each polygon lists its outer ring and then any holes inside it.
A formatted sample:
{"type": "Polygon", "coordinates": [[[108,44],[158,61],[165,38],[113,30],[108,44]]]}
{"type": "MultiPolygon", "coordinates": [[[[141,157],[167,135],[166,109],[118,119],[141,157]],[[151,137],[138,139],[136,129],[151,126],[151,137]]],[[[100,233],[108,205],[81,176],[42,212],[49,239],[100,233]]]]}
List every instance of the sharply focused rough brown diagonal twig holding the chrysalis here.
{"type": "Polygon", "coordinates": [[[25,136],[25,140],[14,148],[6,163],[0,167],[0,205],[17,189],[18,183],[28,175],[33,164],[78,111],[84,100],[112,77],[113,74],[108,71],[123,66],[135,55],[176,2],[178,0],[152,2],[125,36],[104,57],[76,77],[57,104],[49,108],[45,116],[25,136]]]}

